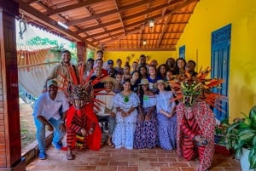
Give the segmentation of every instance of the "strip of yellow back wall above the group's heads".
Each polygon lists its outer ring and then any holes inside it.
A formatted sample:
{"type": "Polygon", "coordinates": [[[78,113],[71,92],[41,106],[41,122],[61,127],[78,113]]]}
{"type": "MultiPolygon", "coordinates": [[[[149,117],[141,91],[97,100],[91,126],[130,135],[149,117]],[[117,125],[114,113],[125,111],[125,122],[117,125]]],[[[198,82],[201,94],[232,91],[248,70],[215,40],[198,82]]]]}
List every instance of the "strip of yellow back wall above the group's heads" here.
{"type": "Polygon", "coordinates": [[[166,63],[166,60],[170,57],[176,59],[177,53],[175,51],[105,51],[104,52],[104,60],[107,61],[109,59],[115,61],[117,59],[121,59],[123,61],[122,66],[125,65],[126,57],[130,57],[130,65],[133,61],[138,61],[141,54],[148,56],[148,63],[151,60],[157,60],[159,64],[166,63]]]}

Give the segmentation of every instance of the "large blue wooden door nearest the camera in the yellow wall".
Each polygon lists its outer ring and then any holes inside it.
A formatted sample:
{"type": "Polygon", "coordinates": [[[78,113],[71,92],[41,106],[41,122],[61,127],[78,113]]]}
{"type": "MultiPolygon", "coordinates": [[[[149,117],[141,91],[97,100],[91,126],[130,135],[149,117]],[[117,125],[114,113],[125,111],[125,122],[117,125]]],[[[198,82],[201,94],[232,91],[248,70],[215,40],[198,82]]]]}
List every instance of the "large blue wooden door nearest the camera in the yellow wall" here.
{"type": "MultiPolygon", "coordinates": [[[[213,92],[228,96],[229,74],[230,74],[230,40],[231,40],[231,24],[224,26],[216,31],[212,31],[212,53],[211,66],[212,78],[224,79],[221,88],[213,88],[213,92]]],[[[219,111],[214,108],[214,116],[223,121],[229,117],[229,104],[227,101],[217,101],[222,109],[219,111]]]]}

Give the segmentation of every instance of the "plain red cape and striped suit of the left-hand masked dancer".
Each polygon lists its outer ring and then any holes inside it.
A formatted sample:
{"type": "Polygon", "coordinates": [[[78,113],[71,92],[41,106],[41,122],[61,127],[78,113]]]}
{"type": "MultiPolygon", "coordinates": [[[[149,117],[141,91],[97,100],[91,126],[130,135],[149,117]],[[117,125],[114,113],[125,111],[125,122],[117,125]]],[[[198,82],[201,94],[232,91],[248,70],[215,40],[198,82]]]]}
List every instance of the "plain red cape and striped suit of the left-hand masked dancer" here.
{"type": "Polygon", "coordinates": [[[81,128],[85,128],[87,132],[84,139],[84,145],[86,145],[90,150],[100,150],[102,131],[99,127],[96,115],[93,112],[93,107],[90,104],[85,105],[81,110],[76,110],[73,106],[71,106],[67,111],[68,146],[75,146],[76,135],[79,133],[81,128]],[[94,129],[92,134],[89,134],[90,128],[94,129]]]}

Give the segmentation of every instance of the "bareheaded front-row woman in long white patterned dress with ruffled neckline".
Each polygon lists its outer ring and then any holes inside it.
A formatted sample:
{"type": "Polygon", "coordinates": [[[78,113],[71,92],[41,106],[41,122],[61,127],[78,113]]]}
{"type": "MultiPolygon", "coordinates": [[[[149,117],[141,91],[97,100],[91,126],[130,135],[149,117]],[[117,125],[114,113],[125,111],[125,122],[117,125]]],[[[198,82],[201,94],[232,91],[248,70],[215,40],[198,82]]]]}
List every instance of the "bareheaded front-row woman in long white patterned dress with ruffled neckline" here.
{"type": "Polygon", "coordinates": [[[131,91],[130,80],[123,82],[124,90],[113,98],[116,107],[116,127],[113,131],[113,144],[116,148],[133,149],[133,136],[137,120],[139,98],[131,91]]]}

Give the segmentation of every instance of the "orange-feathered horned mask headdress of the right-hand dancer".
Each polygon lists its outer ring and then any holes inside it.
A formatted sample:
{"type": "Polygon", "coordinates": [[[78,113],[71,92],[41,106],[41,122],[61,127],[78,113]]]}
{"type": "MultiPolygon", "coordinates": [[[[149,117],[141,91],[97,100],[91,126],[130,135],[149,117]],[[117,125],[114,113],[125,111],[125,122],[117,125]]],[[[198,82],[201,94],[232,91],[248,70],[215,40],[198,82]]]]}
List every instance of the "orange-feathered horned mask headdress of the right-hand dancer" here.
{"type": "Polygon", "coordinates": [[[212,88],[220,88],[218,85],[223,83],[223,79],[207,78],[211,69],[207,67],[205,70],[200,70],[196,77],[191,77],[189,72],[172,77],[171,81],[167,81],[172,87],[176,98],[173,100],[182,100],[184,105],[190,106],[197,100],[203,100],[207,104],[221,110],[219,101],[227,100],[228,98],[221,94],[212,92],[212,88]]]}

